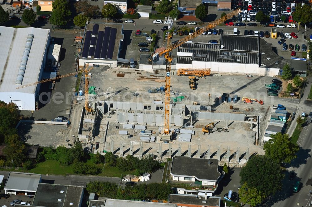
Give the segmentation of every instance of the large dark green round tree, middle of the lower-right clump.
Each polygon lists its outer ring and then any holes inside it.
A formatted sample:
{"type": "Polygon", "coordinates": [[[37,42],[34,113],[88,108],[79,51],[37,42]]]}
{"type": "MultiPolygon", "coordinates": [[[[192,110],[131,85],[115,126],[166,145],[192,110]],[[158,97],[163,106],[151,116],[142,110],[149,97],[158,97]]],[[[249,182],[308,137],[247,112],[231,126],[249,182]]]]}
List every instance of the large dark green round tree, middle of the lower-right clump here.
{"type": "Polygon", "coordinates": [[[239,173],[241,185],[247,183],[247,188],[254,187],[265,197],[274,195],[281,189],[282,178],[280,164],[265,155],[256,155],[248,160],[239,173]]]}

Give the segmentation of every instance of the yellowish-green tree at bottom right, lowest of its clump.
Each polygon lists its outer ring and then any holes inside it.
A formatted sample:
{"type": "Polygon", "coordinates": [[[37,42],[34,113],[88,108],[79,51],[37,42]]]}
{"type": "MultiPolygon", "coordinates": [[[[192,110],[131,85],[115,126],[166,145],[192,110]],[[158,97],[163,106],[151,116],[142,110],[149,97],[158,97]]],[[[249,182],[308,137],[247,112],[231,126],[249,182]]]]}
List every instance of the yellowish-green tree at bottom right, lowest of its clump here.
{"type": "Polygon", "coordinates": [[[239,198],[243,203],[249,203],[252,207],[261,204],[265,199],[265,195],[258,191],[255,187],[248,188],[245,182],[239,189],[239,198]]]}

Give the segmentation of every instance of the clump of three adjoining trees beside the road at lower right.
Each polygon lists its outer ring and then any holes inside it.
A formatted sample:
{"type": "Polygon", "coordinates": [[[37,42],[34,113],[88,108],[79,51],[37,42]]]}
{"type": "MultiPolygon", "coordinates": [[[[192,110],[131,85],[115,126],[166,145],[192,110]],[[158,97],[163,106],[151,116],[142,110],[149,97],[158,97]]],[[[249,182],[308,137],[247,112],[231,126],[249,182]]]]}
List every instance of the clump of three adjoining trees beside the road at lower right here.
{"type": "Polygon", "coordinates": [[[281,164],[290,163],[299,150],[287,134],[277,133],[271,138],[263,146],[265,155],[253,156],[240,172],[240,198],[251,206],[261,204],[281,189],[284,178],[281,164]]]}

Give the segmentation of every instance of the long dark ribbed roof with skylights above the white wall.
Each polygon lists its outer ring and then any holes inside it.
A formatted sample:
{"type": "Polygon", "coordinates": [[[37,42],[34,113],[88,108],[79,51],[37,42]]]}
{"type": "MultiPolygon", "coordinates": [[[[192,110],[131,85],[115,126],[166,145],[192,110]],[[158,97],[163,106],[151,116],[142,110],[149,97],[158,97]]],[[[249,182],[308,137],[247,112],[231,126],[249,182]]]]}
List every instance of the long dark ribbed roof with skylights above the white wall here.
{"type": "Polygon", "coordinates": [[[259,64],[258,52],[221,51],[220,44],[184,43],[178,47],[179,52],[193,53],[192,57],[178,56],[177,63],[182,64],[192,61],[259,64]]]}

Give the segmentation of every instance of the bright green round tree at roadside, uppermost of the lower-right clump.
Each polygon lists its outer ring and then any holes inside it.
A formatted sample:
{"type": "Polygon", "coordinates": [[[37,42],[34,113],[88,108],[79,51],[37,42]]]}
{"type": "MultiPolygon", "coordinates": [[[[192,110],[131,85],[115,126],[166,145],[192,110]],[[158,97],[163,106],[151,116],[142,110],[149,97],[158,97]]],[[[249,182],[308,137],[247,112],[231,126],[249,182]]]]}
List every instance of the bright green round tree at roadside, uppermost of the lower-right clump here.
{"type": "Polygon", "coordinates": [[[299,147],[291,142],[288,134],[277,134],[271,135],[272,139],[267,141],[263,145],[263,149],[266,152],[266,157],[275,161],[276,163],[290,163],[291,160],[295,159],[295,155],[299,147]]]}

